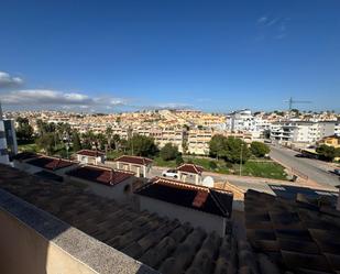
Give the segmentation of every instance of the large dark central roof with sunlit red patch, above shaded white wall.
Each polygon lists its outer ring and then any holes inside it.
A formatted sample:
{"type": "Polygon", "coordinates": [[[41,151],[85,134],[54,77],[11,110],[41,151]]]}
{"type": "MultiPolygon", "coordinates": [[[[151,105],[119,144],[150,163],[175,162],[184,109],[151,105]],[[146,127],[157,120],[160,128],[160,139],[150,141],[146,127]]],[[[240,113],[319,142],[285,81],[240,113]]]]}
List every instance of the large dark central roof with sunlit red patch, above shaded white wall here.
{"type": "Polygon", "coordinates": [[[135,193],[222,217],[229,217],[232,210],[232,193],[163,177],[155,177],[135,193]]]}

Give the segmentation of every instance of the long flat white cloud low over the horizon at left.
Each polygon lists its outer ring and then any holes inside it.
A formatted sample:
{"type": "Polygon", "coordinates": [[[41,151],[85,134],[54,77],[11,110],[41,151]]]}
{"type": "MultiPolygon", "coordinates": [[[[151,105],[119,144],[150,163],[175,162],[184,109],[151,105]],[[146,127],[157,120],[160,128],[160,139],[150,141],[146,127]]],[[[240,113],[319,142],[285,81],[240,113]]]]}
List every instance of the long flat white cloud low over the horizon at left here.
{"type": "Polygon", "coordinates": [[[79,92],[63,92],[50,89],[24,89],[13,90],[1,96],[2,102],[7,105],[35,105],[35,106],[78,106],[88,108],[89,106],[117,106],[124,105],[122,99],[117,98],[91,98],[79,92]]]}

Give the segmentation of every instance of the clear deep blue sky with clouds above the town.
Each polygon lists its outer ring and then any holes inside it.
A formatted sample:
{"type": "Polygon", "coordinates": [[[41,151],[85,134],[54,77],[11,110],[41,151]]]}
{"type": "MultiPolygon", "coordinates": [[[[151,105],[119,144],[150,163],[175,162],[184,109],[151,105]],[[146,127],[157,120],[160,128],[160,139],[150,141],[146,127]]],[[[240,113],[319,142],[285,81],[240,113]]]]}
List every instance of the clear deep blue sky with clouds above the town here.
{"type": "Polygon", "coordinates": [[[340,1],[2,1],[4,109],[340,111],[340,1]]]}

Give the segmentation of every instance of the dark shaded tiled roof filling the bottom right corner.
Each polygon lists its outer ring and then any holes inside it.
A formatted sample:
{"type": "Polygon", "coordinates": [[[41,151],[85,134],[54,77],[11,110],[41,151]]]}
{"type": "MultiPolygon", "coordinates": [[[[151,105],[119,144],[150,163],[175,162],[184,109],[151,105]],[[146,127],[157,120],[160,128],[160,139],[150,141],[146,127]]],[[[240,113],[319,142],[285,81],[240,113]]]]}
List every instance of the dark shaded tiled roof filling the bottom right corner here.
{"type": "Polygon", "coordinates": [[[248,190],[246,234],[256,252],[294,273],[340,273],[340,212],[303,195],[296,200],[248,190]]]}

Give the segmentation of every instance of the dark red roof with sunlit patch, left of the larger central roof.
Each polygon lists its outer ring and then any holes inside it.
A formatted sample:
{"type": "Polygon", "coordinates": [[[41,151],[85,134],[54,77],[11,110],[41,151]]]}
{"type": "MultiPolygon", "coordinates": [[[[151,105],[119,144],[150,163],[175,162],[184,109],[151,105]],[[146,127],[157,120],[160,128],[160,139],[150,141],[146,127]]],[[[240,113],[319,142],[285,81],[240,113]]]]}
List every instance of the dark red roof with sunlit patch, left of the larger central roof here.
{"type": "Polygon", "coordinates": [[[85,165],[66,173],[69,176],[113,186],[134,175],[133,172],[114,171],[92,165],[85,165]]]}

